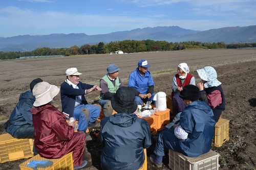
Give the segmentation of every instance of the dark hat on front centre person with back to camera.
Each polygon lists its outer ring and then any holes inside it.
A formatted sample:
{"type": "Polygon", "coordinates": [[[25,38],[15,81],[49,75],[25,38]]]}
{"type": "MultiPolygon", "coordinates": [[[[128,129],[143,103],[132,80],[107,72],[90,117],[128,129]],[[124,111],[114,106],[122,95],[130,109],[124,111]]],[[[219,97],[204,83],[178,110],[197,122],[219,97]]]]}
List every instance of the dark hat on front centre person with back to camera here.
{"type": "Polygon", "coordinates": [[[118,113],[134,113],[137,109],[132,87],[120,87],[111,99],[111,105],[118,113]]]}

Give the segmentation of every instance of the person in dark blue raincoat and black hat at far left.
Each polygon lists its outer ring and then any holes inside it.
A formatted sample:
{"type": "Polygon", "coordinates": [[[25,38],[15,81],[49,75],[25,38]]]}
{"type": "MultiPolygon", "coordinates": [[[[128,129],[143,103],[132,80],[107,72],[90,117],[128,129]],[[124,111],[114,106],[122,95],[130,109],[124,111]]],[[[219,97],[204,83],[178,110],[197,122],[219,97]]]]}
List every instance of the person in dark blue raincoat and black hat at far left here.
{"type": "Polygon", "coordinates": [[[13,109],[9,120],[4,124],[6,131],[15,138],[34,138],[34,127],[30,109],[33,107],[35,97],[32,94],[34,86],[42,79],[34,79],[30,83],[30,90],[19,95],[19,102],[13,109]]]}

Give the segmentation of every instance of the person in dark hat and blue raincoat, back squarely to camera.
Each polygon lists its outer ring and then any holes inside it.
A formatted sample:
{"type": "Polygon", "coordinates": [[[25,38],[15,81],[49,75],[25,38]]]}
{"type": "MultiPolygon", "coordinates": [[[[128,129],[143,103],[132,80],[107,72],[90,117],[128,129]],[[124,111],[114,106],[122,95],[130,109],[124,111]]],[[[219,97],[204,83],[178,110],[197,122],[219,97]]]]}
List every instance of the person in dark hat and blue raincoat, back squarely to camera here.
{"type": "Polygon", "coordinates": [[[137,109],[134,90],[120,87],[111,99],[118,113],[101,120],[99,139],[104,143],[103,170],[139,169],[145,159],[143,150],[152,144],[150,126],[145,119],[133,114],[137,109]]]}

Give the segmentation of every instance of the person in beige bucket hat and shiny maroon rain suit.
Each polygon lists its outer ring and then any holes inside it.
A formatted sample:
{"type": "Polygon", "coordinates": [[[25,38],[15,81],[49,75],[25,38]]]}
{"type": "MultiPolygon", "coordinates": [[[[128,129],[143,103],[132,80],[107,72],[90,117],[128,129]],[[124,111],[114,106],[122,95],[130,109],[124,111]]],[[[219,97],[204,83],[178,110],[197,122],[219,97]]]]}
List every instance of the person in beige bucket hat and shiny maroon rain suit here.
{"type": "Polygon", "coordinates": [[[31,113],[35,148],[47,159],[61,158],[73,151],[74,168],[81,168],[87,164],[82,160],[86,135],[74,132],[75,121],[67,123],[65,115],[52,105],[58,93],[59,88],[47,82],[37,83],[33,88],[35,102],[31,113]]]}

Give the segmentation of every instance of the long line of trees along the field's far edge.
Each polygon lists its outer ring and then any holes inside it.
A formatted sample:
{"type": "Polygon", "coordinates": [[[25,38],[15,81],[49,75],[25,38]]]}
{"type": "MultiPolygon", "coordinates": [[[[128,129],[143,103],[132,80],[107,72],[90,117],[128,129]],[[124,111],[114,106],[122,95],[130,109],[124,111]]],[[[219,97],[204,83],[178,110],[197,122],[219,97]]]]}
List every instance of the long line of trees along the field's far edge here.
{"type": "Polygon", "coordinates": [[[1,52],[0,59],[17,59],[20,57],[30,56],[73,56],[73,55],[90,55],[90,54],[110,54],[116,51],[122,51],[123,53],[139,53],[139,52],[156,52],[156,51],[179,51],[179,50],[208,50],[218,48],[246,48],[256,47],[256,43],[236,43],[225,44],[224,42],[209,43],[198,41],[186,41],[186,42],[167,42],[167,41],[154,41],[154,40],[123,40],[123,41],[111,41],[104,44],[99,42],[98,44],[90,45],[84,44],[80,47],[77,45],[68,48],[49,48],[38,47],[30,52],[1,52]]]}

